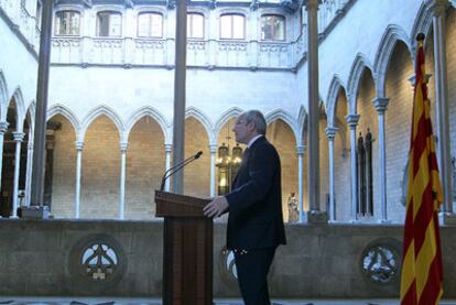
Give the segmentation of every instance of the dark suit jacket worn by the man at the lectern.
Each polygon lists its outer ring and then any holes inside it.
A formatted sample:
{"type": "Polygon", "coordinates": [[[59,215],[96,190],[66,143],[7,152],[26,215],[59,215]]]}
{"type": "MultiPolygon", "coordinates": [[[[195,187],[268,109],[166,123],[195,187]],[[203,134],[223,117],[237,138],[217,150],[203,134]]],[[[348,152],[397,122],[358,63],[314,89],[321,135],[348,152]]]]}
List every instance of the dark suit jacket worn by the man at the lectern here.
{"type": "Polygon", "coordinates": [[[250,146],[234,186],[226,195],[227,248],[251,250],[285,244],[280,159],[264,137],[250,146]]]}

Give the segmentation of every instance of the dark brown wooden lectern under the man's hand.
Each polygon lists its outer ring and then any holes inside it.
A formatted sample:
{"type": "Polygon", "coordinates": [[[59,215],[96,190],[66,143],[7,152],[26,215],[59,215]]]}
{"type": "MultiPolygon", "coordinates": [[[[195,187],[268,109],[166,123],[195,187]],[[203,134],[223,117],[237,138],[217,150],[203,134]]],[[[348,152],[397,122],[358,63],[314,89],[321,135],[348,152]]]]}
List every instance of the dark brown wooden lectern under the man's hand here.
{"type": "Polygon", "coordinates": [[[213,219],[209,203],[155,190],[163,226],[163,305],[213,305],[213,219]]]}

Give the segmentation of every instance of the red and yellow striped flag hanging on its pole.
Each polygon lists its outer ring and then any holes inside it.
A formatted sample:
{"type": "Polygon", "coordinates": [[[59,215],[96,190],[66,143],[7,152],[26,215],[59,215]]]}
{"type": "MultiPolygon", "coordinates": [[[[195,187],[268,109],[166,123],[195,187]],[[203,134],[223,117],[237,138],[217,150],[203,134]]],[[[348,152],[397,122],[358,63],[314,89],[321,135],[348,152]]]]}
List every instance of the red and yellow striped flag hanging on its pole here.
{"type": "Polygon", "coordinates": [[[443,201],[424,70],[424,34],[417,37],[401,304],[434,305],[443,294],[438,208],[443,201]]]}

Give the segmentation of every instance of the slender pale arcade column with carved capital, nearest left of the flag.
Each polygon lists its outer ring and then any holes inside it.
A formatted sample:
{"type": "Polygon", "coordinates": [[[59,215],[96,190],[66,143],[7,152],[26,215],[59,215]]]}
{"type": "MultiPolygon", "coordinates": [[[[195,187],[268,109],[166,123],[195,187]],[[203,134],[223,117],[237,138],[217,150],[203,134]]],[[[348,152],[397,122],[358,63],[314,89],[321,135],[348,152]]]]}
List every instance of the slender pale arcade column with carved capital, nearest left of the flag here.
{"type": "Polygon", "coordinates": [[[379,115],[379,161],[380,161],[380,203],[381,222],[388,222],[387,215],[387,140],[384,131],[384,111],[387,111],[389,99],[377,97],[372,104],[379,115]]]}

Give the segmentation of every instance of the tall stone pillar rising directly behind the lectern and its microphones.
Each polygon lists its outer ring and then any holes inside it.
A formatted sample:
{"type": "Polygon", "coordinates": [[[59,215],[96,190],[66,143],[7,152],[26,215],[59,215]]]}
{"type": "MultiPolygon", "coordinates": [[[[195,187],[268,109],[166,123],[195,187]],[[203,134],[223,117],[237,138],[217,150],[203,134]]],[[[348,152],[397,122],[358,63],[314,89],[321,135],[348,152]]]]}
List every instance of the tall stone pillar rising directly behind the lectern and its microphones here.
{"type": "MultiPolygon", "coordinates": [[[[184,160],[187,1],[176,0],[176,57],[174,69],[173,164],[184,160]]],[[[184,193],[184,171],[173,175],[173,193],[184,193]]]]}

